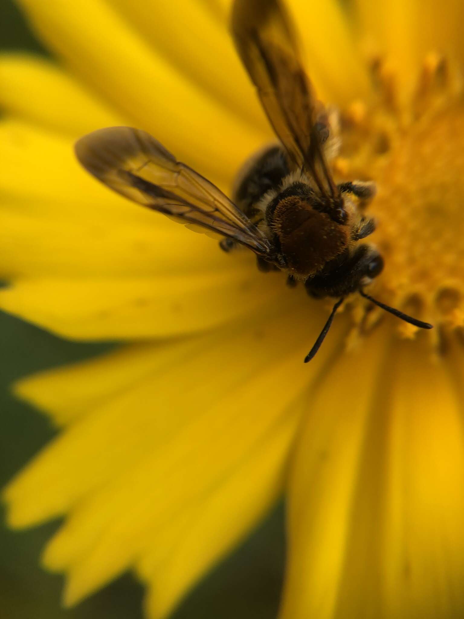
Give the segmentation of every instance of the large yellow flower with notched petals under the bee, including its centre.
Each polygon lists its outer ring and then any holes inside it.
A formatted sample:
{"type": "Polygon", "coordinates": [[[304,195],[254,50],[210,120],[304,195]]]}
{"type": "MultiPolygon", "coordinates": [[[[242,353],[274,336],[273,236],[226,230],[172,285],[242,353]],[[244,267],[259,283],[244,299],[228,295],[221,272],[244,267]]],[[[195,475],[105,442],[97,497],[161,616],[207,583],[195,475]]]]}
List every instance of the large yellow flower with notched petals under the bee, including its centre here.
{"type": "Polygon", "coordinates": [[[7,488],[9,522],[66,516],[43,559],[67,574],[66,604],[134,569],[148,617],[166,617],[286,488],[282,619],[462,617],[462,2],[288,2],[340,109],[337,180],[379,186],[373,289],[436,325],[354,300],[309,366],[324,301],[115,196],[72,154],[129,124],[230,191],[272,134],[228,0],[21,4],[64,68],[0,60],[0,305],[127,340],[16,387],[62,431],[7,488]]]}

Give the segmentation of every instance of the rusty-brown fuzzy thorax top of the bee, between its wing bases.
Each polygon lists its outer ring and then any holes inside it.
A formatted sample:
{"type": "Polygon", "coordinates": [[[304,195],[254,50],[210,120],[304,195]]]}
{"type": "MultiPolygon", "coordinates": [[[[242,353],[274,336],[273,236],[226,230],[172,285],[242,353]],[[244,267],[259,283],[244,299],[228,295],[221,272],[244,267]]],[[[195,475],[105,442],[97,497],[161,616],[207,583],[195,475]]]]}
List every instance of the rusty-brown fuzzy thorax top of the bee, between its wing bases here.
{"type": "Polygon", "coordinates": [[[336,258],[350,238],[346,225],[314,209],[297,196],[283,199],[275,208],[272,228],[280,240],[288,267],[298,275],[314,275],[336,258]]]}

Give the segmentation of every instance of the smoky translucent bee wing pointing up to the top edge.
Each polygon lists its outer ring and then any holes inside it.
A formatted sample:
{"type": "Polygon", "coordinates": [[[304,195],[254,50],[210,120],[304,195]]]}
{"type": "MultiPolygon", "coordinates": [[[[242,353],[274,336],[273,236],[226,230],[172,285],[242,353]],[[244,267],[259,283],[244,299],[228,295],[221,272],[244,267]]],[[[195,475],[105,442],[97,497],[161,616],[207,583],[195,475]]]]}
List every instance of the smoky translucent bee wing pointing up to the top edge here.
{"type": "Polygon", "coordinates": [[[280,0],[235,0],[231,21],[238,52],[272,127],[296,168],[306,168],[322,194],[338,194],[321,144],[328,136],[280,0]]]}

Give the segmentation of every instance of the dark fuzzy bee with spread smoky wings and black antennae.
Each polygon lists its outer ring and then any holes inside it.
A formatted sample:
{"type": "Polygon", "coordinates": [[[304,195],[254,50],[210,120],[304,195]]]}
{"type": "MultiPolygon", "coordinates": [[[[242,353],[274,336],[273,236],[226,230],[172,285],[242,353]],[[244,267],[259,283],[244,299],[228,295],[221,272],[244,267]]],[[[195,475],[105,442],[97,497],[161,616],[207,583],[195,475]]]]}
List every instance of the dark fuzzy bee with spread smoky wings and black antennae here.
{"type": "Polygon", "coordinates": [[[82,137],[75,144],[79,162],[132,201],[197,232],[223,236],[223,250],[251,249],[261,271],[284,271],[288,284],[300,280],[312,297],[337,298],[305,362],[319,350],[351,293],[430,329],[364,292],[384,266],[374,246],[358,243],[375,229],[359,207],[374,196],[374,184],[333,180],[329,115],[314,96],[280,0],[236,0],[231,30],[279,141],[247,167],[233,201],[140,129],[112,127],[82,137]]]}

